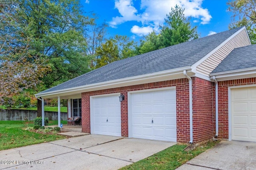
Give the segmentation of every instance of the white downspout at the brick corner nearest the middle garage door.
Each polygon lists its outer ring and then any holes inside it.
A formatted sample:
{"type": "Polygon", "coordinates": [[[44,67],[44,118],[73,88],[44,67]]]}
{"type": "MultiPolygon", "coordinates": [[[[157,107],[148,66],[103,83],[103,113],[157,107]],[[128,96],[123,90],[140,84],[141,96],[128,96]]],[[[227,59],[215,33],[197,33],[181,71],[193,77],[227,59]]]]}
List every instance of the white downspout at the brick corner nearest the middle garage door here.
{"type": "Polygon", "coordinates": [[[188,78],[188,82],[189,82],[189,127],[190,127],[189,143],[193,143],[192,78],[188,76],[186,70],[183,71],[183,74],[186,78],[188,78]]]}

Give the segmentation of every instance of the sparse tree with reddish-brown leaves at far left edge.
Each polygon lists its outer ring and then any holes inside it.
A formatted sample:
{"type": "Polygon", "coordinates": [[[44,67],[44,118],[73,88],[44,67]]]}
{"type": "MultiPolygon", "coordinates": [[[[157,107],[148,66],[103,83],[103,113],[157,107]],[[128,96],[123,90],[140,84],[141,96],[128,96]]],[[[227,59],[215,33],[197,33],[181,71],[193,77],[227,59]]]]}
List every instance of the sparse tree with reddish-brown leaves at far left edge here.
{"type": "Polygon", "coordinates": [[[34,88],[50,70],[46,60],[30,49],[31,37],[24,36],[17,6],[17,1],[0,2],[0,104],[23,89],[34,88]]]}

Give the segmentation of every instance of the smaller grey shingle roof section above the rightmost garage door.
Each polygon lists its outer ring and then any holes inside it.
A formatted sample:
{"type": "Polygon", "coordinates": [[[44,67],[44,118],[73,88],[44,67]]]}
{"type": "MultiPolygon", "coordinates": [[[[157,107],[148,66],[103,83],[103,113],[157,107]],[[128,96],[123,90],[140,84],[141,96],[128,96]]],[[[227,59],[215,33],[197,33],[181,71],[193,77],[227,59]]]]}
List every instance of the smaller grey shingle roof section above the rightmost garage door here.
{"type": "Polygon", "coordinates": [[[231,53],[211,72],[227,72],[256,67],[256,44],[240,47],[231,53]]]}

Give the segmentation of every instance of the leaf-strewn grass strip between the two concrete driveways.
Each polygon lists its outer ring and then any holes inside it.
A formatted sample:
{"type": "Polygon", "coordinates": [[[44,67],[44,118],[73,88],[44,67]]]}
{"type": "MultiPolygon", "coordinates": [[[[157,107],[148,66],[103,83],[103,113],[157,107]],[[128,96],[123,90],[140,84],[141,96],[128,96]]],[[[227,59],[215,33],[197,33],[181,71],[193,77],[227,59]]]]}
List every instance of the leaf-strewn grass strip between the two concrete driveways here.
{"type": "Polygon", "coordinates": [[[209,142],[190,151],[184,151],[187,145],[174,145],[120,170],[175,170],[217,143],[218,141],[209,142]]]}

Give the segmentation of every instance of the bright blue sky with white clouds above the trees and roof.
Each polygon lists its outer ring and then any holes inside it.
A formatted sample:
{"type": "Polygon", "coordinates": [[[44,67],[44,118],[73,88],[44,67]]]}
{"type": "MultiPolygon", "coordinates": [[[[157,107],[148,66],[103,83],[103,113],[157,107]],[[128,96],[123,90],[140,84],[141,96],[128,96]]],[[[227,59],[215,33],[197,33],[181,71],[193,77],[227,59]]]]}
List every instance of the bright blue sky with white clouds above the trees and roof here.
{"type": "Polygon", "coordinates": [[[108,36],[127,35],[138,40],[153,30],[158,31],[166,14],[176,4],[192,16],[192,26],[198,26],[200,37],[228,30],[232,13],[228,0],[80,0],[83,10],[94,12],[97,23],[109,25],[108,36]]]}

